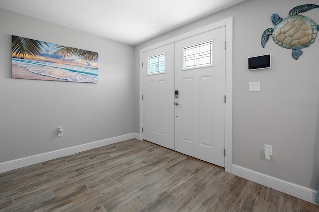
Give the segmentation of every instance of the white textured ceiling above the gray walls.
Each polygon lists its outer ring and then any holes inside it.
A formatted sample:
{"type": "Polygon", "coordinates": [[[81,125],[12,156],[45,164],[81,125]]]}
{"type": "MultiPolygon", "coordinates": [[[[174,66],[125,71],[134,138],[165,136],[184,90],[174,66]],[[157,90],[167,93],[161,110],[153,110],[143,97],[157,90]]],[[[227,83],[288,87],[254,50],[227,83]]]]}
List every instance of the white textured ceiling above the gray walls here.
{"type": "Polygon", "coordinates": [[[244,0],[1,0],[0,7],[138,45],[244,0]]]}

